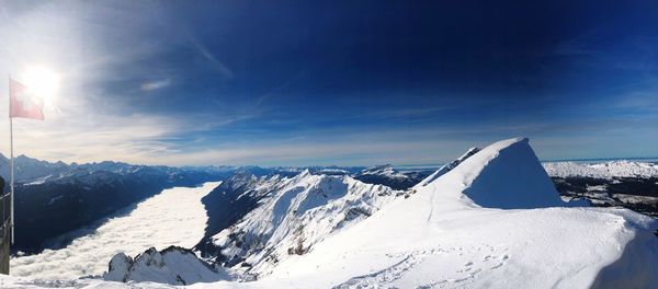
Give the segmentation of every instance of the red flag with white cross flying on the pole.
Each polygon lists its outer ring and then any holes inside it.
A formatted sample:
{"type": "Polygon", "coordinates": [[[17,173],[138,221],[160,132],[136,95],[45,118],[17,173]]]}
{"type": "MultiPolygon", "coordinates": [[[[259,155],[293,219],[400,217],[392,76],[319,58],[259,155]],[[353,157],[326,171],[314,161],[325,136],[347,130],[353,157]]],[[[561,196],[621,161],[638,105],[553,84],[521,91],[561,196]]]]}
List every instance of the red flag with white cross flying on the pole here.
{"type": "Polygon", "coordinates": [[[10,117],[44,120],[44,100],[30,93],[25,85],[10,79],[10,117]]]}

